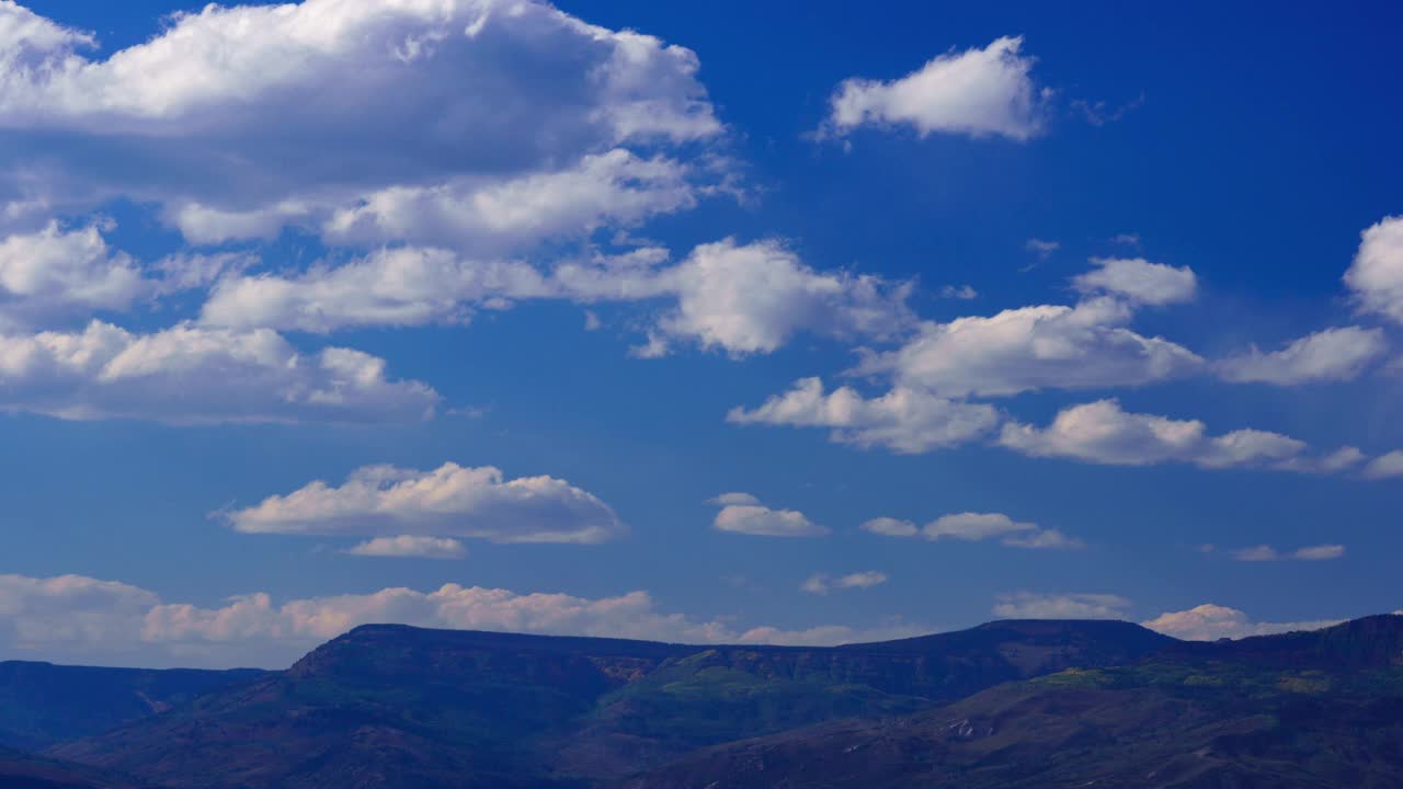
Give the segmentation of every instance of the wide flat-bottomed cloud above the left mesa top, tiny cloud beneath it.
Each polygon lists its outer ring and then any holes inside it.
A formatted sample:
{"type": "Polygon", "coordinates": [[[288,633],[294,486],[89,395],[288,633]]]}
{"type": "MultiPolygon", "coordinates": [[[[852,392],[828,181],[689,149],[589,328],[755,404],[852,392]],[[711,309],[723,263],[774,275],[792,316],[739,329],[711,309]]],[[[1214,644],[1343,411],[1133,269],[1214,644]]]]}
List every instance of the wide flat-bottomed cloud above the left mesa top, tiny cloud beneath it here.
{"type": "Polygon", "coordinates": [[[248,533],[478,538],[595,543],[623,524],[607,504],[565,480],[508,480],[492,466],[443,463],[431,472],[366,466],[340,487],[313,482],[224,515],[248,533]]]}

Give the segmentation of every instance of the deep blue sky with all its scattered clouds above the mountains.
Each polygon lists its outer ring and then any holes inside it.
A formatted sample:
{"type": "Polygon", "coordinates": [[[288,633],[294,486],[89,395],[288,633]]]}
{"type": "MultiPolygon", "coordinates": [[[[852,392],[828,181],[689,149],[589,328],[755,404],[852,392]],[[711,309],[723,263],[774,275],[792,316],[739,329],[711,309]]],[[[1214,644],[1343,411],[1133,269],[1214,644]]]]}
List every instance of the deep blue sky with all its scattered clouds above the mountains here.
{"type": "Polygon", "coordinates": [[[0,3],[0,657],[1397,609],[1399,22],[0,3]]]}

